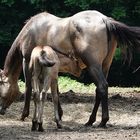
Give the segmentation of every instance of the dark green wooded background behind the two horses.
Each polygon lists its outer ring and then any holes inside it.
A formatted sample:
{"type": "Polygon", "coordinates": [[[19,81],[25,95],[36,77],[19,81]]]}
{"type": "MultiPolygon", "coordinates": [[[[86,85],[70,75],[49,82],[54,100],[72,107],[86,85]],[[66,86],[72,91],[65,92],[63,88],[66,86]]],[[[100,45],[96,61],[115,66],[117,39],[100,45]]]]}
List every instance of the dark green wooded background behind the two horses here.
{"type": "MultiPolygon", "coordinates": [[[[83,10],[98,10],[103,14],[131,26],[140,26],[140,0],[0,0],[0,67],[3,68],[6,54],[26,20],[42,11],[56,16],[71,16],[83,10]]],[[[116,51],[110,69],[110,85],[139,86],[139,54],[134,55],[130,66],[122,64],[120,50],[116,51]]],[[[85,70],[79,81],[90,82],[85,70]]]]}

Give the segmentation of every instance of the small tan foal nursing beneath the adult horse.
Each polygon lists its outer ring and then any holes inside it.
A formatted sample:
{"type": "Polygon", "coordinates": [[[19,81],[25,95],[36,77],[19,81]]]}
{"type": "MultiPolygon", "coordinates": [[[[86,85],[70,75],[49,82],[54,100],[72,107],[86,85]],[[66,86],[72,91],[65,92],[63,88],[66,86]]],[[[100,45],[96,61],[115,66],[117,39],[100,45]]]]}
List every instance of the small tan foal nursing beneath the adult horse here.
{"type": "Polygon", "coordinates": [[[32,130],[43,131],[42,114],[46,92],[51,87],[54,103],[54,115],[58,128],[61,128],[63,110],[59,101],[58,72],[67,72],[79,77],[82,70],[80,61],[56,52],[49,46],[37,46],[33,49],[29,63],[32,74],[35,111],[32,120],[32,130]]]}

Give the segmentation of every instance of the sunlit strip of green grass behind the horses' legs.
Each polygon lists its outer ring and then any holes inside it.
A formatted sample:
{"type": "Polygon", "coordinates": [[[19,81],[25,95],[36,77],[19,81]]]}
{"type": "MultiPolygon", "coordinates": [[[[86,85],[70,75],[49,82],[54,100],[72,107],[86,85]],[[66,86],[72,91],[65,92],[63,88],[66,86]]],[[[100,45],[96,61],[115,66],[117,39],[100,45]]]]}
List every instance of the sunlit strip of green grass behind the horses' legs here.
{"type": "MultiPolygon", "coordinates": [[[[21,80],[18,82],[21,92],[25,91],[25,83],[21,80]]],[[[94,93],[96,86],[94,84],[84,85],[69,77],[59,76],[58,85],[60,92],[67,92],[73,90],[76,93],[94,93]]],[[[126,92],[140,92],[139,87],[109,87],[109,93],[126,93],[126,92]]]]}

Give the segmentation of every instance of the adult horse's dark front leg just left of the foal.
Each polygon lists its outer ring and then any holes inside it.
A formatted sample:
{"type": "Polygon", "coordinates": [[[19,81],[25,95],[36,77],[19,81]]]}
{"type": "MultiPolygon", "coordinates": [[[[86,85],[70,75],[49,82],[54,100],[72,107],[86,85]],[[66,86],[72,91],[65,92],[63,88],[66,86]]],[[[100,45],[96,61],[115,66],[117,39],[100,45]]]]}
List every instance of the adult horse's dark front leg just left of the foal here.
{"type": "Polygon", "coordinates": [[[29,62],[26,61],[25,58],[23,59],[23,73],[24,73],[24,78],[25,78],[25,104],[24,104],[21,120],[24,121],[24,119],[29,116],[30,100],[31,100],[31,93],[32,93],[31,73],[29,71],[29,62]]]}

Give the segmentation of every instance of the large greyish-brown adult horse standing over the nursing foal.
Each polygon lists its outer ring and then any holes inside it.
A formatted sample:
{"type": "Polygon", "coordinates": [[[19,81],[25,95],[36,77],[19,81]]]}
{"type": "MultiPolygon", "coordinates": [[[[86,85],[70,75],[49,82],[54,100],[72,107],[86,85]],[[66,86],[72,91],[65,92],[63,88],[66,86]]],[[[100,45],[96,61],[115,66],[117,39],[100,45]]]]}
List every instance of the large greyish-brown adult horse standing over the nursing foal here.
{"type": "MultiPolygon", "coordinates": [[[[85,126],[91,126],[96,121],[101,104],[99,126],[106,127],[109,120],[107,76],[115,50],[117,46],[123,46],[126,58],[131,60],[132,50],[139,50],[140,28],[116,21],[96,10],[81,11],[65,18],[43,12],[30,18],[13,42],[3,70],[11,89],[17,83],[23,64],[26,96],[22,120],[29,115],[32,91],[29,62],[33,48],[38,45],[49,45],[67,56],[72,55],[81,69],[84,66],[89,70],[96,86],[96,98],[85,126]]],[[[7,92],[7,100],[11,101],[14,94],[15,91],[7,92]]],[[[8,103],[4,101],[2,106],[7,107],[8,103]]]]}

